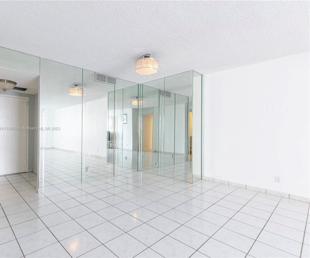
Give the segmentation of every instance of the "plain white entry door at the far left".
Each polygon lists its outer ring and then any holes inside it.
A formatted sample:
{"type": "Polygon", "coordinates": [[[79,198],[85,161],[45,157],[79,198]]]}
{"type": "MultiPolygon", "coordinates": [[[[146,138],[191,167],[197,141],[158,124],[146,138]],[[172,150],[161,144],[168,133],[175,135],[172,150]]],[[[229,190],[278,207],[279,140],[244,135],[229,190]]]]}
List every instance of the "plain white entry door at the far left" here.
{"type": "Polygon", "coordinates": [[[28,172],[27,101],[0,96],[0,175],[28,172]]]}

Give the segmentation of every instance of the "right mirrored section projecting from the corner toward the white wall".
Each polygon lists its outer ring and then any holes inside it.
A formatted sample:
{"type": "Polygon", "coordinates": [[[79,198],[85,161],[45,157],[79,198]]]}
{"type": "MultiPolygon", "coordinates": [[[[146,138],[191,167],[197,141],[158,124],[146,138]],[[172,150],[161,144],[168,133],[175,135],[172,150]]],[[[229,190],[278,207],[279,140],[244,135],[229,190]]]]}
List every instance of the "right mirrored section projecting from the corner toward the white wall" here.
{"type": "Polygon", "coordinates": [[[202,75],[188,71],[141,87],[140,170],[186,182],[201,179],[202,75]]]}

